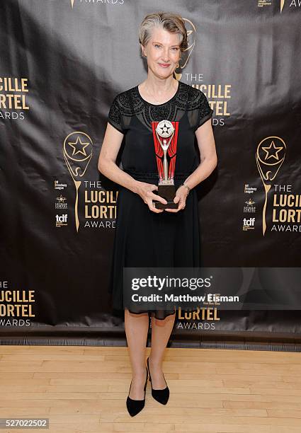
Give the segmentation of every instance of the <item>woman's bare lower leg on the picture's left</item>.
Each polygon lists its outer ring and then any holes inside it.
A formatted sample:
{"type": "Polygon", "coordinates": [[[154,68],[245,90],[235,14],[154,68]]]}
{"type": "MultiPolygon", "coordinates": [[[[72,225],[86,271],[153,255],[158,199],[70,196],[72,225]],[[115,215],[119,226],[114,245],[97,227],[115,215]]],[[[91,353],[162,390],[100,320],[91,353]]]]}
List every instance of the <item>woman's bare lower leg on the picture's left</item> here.
{"type": "Polygon", "coordinates": [[[148,330],[148,313],[134,314],[125,308],[125,335],[132,366],[132,386],[130,387],[129,396],[133,400],[143,400],[144,398],[143,388],[147,377],[145,348],[147,346],[148,330]]]}

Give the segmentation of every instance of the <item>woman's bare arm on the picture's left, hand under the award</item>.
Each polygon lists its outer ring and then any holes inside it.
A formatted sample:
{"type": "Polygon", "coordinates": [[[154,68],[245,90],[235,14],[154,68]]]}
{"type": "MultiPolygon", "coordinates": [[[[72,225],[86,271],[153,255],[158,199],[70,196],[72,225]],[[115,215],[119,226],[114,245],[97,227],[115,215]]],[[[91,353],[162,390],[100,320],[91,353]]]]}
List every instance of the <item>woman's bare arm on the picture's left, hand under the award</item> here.
{"type": "Polygon", "coordinates": [[[149,209],[152,210],[152,212],[163,212],[161,209],[156,209],[152,203],[152,200],[166,203],[166,200],[152,192],[158,189],[157,185],[151,185],[149,183],[135,180],[132,176],[125,173],[117,166],[115,161],[122,142],[123,134],[108,123],[98,158],[98,170],[108,179],[113,180],[113,182],[140,195],[142,200],[144,200],[144,203],[148,204],[149,209]]]}

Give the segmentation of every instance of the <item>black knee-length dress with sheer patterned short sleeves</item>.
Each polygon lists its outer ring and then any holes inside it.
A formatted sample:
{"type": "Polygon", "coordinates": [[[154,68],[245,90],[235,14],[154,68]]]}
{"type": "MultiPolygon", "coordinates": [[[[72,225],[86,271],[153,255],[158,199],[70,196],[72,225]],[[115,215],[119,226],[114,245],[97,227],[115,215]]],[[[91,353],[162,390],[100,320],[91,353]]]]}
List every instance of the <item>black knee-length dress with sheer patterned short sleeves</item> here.
{"type": "MultiPolygon", "coordinates": [[[[178,188],[198,167],[199,151],[195,130],[212,117],[204,93],[178,81],[176,94],[163,104],[142,98],[138,86],[119,93],[110,107],[108,123],[125,134],[122,168],[133,178],[158,185],[152,121],[178,121],[178,142],[174,183],[178,188]]],[[[198,199],[191,190],[186,207],[179,212],[149,210],[140,195],[120,186],[113,246],[110,288],[113,308],[123,307],[123,267],[200,267],[198,199]]],[[[175,310],[153,312],[164,319],[175,310]]]]}

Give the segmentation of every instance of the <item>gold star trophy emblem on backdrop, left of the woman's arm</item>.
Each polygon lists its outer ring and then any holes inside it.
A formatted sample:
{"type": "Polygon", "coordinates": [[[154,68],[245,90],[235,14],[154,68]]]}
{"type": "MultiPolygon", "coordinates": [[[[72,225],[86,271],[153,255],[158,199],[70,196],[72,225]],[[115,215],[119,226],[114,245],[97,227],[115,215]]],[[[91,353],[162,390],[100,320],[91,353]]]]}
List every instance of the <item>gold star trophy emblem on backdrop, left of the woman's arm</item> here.
{"type": "Polygon", "coordinates": [[[84,173],[86,173],[86,169],[89,166],[89,162],[92,158],[92,151],[92,140],[89,135],[85,134],[84,132],[72,132],[64,139],[63,155],[68,170],[72,175],[72,179],[74,180],[76,189],[74,205],[76,231],[79,231],[78,204],[79,186],[81,185],[81,180],[79,179],[84,175],[84,173]]]}

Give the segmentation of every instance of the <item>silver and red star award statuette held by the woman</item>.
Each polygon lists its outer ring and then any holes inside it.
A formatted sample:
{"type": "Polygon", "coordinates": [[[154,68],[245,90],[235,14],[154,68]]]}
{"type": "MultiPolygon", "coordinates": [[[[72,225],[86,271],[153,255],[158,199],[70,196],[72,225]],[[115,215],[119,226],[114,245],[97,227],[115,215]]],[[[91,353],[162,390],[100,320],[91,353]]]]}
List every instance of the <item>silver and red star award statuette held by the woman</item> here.
{"type": "Polygon", "coordinates": [[[167,204],[155,202],[157,209],[177,209],[174,203],[176,188],[174,186],[174,169],[176,166],[176,144],[178,141],[178,122],[152,122],[154,149],[159,173],[158,190],[154,193],[163,197],[167,204]]]}

